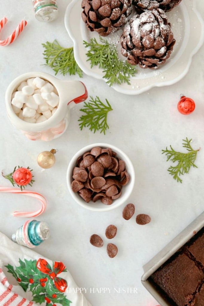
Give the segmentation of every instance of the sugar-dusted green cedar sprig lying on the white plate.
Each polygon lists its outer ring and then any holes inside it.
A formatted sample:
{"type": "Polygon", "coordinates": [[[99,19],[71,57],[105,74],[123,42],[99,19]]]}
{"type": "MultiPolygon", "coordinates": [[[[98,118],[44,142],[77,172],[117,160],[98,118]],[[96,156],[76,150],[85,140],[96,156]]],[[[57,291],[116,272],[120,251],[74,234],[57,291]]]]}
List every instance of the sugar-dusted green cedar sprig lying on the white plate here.
{"type": "Polygon", "coordinates": [[[108,43],[106,39],[100,37],[102,44],[98,43],[95,38],[90,39],[90,43],[83,41],[86,48],[89,48],[87,61],[91,62],[91,68],[97,66],[103,69],[106,83],[109,86],[113,84],[127,83],[130,85],[130,76],[134,76],[137,72],[135,66],[130,65],[127,61],[123,61],[118,57],[117,47],[108,43]]]}

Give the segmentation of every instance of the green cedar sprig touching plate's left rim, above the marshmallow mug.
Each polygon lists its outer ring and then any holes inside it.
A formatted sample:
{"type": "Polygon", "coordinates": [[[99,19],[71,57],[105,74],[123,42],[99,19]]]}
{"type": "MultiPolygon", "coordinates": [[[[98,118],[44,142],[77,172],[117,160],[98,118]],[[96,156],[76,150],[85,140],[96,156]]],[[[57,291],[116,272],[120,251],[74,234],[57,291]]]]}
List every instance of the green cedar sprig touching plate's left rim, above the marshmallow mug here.
{"type": "Polygon", "coordinates": [[[60,72],[63,76],[67,73],[69,75],[78,73],[80,77],[83,76],[82,70],[75,61],[73,47],[63,48],[56,39],[53,43],[49,43],[48,41],[42,43],[42,46],[45,48],[43,52],[46,61],[45,65],[51,67],[55,75],[60,72]]]}

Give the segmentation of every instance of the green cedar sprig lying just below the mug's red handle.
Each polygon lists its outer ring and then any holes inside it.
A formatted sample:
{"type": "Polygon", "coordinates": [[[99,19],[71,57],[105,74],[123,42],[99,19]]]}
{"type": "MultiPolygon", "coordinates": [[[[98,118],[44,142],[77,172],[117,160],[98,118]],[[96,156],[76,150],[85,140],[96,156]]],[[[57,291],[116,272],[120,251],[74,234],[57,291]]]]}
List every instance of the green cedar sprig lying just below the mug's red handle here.
{"type": "Polygon", "coordinates": [[[79,124],[80,130],[85,127],[89,127],[91,131],[100,130],[100,133],[106,134],[106,129],[109,129],[107,124],[107,115],[110,110],[113,110],[110,106],[108,100],[106,99],[106,104],[102,103],[98,96],[94,99],[90,96],[90,102],[84,102],[84,108],[80,109],[86,115],[82,115],[78,121],[81,121],[79,124]]]}

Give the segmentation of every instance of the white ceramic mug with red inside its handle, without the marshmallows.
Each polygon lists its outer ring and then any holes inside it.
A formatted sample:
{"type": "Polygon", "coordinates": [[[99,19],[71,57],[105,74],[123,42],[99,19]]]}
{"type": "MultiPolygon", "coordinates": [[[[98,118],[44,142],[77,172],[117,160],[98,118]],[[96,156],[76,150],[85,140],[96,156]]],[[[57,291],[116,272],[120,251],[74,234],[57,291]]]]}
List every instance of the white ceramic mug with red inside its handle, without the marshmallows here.
{"type": "Polygon", "coordinates": [[[87,97],[87,88],[80,81],[59,80],[48,73],[29,72],[18,76],[9,84],[5,96],[6,110],[13,126],[20,129],[28,139],[49,141],[59,137],[67,129],[70,121],[70,108],[73,103],[83,102],[87,97]],[[11,104],[13,92],[17,91],[23,81],[33,77],[40,77],[50,82],[56,88],[59,96],[56,112],[46,121],[39,123],[29,123],[20,119],[14,113],[11,104]]]}

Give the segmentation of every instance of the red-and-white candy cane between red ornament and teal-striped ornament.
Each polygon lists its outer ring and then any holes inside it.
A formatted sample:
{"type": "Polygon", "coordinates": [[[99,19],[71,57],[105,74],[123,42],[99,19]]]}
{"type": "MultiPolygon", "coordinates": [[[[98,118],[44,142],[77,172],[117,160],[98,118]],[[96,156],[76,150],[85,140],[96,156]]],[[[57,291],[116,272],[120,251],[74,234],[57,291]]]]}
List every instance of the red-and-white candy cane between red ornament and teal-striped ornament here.
{"type": "Polygon", "coordinates": [[[37,192],[33,192],[33,191],[28,191],[28,190],[23,190],[21,191],[18,188],[10,188],[10,187],[2,187],[0,186],[0,192],[9,192],[9,193],[20,193],[20,194],[26,194],[27,196],[32,196],[33,198],[38,199],[41,202],[41,208],[37,211],[14,211],[13,212],[13,216],[14,217],[25,217],[25,218],[32,218],[32,217],[37,217],[39,215],[41,215],[46,207],[47,207],[47,201],[45,199],[44,196],[42,196],[41,194],[37,193],[37,192]]]}

